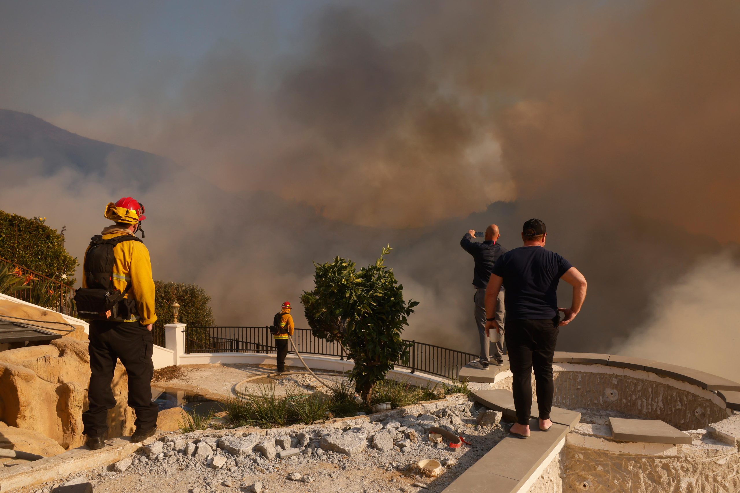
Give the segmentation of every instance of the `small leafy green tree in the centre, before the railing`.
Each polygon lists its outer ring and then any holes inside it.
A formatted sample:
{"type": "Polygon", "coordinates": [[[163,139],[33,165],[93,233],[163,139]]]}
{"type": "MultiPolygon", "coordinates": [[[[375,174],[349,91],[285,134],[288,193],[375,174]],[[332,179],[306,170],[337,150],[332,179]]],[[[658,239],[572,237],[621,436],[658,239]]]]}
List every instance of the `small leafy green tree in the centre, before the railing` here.
{"type": "Polygon", "coordinates": [[[410,343],[401,339],[407,317],[418,302],[403,300],[403,285],[383,265],[383,253],[360,271],[351,260],[336,257],[317,265],[315,287],[304,291],[301,302],[316,337],[341,341],[354,360],[351,379],[366,405],[372,389],[383,381],[394,361],[408,363],[410,343]]]}

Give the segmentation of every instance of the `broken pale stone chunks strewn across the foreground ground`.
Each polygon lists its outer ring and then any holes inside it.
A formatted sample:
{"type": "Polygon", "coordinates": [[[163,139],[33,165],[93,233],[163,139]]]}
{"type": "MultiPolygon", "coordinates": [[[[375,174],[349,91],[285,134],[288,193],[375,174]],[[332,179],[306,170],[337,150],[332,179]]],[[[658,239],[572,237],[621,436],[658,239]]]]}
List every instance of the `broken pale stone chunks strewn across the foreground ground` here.
{"type": "MultiPolygon", "coordinates": [[[[130,466],[135,464],[135,471],[142,471],[147,475],[171,470],[173,466],[212,471],[206,474],[216,475],[214,480],[207,481],[206,477],[203,478],[206,480],[205,484],[196,483],[191,486],[191,488],[199,486],[203,493],[209,493],[221,486],[228,487],[225,481],[230,480],[229,477],[237,477],[245,473],[277,472],[283,467],[278,461],[295,460],[301,452],[305,455],[295,463],[296,465],[303,464],[303,461],[309,460],[309,457],[310,460],[314,460],[315,457],[317,460],[338,464],[339,469],[352,469],[351,463],[347,462],[348,459],[342,458],[343,455],[353,457],[369,449],[369,458],[372,458],[394,449],[399,452],[401,450],[408,452],[422,447],[429,449],[434,444],[428,443],[425,439],[428,436],[425,429],[431,427],[431,424],[445,426],[448,429],[460,428],[453,424],[457,424],[457,421],[453,419],[454,416],[460,418],[460,423],[467,426],[467,429],[472,426],[473,416],[470,407],[466,408],[467,410],[460,407],[444,408],[440,411],[436,410],[439,408],[432,409],[435,412],[419,416],[395,413],[393,418],[386,418],[380,422],[353,423],[350,421],[341,429],[334,427],[337,424],[333,424],[314,425],[300,432],[294,429],[272,429],[252,433],[239,430],[210,430],[166,435],[154,443],[144,444],[140,452],[132,457],[132,463],[129,463],[125,470],[130,471],[130,466]],[[289,448],[284,449],[285,446],[289,448]],[[275,455],[272,455],[271,449],[275,455]]],[[[440,449],[446,447],[446,442],[440,444],[440,449]]],[[[437,452],[434,453],[437,454],[437,452]]],[[[443,458],[439,455],[431,455],[431,457],[437,458],[440,462],[443,458]]],[[[414,458],[414,461],[417,459],[418,457],[414,458]]],[[[411,463],[396,464],[397,467],[391,470],[406,470],[406,466],[409,465],[411,463]]],[[[452,465],[454,462],[445,463],[448,467],[452,465]]],[[[110,471],[104,471],[101,475],[110,477],[115,474],[113,466],[108,469],[110,471]]],[[[325,474],[332,479],[340,476],[338,471],[325,474]]],[[[311,482],[312,480],[311,476],[300,476],[300,481],[311,482]]],[[[243,491],[247,489],[253,491],[254,484],[252,481],[242,484],[243,491]]],[[[260,492],[264,491],[266,489],[262,486],[260,492]]]]}

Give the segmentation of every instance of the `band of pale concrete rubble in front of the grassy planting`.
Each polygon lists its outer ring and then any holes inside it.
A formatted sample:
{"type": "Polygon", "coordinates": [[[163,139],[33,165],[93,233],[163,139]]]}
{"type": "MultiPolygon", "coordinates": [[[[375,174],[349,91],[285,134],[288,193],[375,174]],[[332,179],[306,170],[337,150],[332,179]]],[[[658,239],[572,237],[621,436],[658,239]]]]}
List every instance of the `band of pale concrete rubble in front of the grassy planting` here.
{"type": "MultiPolygon", "coordinates": [[[[181,435],[168,434],[142,446],[138,452],[129,457],[110,464],[96,476],[104,483],[105,480],[124,472],[152,478],[173,469],[211,471],[207,474],[214,478],[211,480],[212,484],[203,480],[203,483],[193,484],[188,489],[189,492],[199,489],[201,493],[208,493],[223,486],[225,482],[239,485],[239,481],[246,476],[270,475],[286,466],[308,464],[307,461],[314,460],[349,469],[347,461],[358,456],[362,456],[358,459],[360,463],[363,463],[368,455],[371,458],[377,457],[373,459],[377,462],[382,460],[380,459],[382,455],[401,453],[406,456],[408,452],[418,450],[418,453],[441,461],[445,456],[440,454],[451,452],[444,450],[448,449],[446,443],[437,449],[436,444],[426,440],[428,428],[440,426],[460,435],[471,433],[478,411],[462,396],[456,400],[440,403],[442,405],[432,404],[434,405],[421,409],[423,412],[402,410],[378,413],[371,417],[337,420],[331,424],[298,425],[267,430],[246,429],[244,432],[225,429],[181,435]],[[377,421],[370,421],[371,418],[377,421]]],[[[380,466],[382,467],[382,463],[380,466]]],[[[397,464],[397,467],[400,465],[397,464]]],[[[290,469],[287,472],[289,473],[290,469]]],[[[328,474],[329,472],[326,472],[326,475],[328,474]]],[[[331,474],[331,479],[340,477],[339,471],[332,471],[331,474]]],[[[313,472],[310,475],[296,472],[295,475],[286,476],[283,477],[306,483],[316,480],[313,472]]],[[[272,491],[280,491],[280,487],[276,488],[277,485],[271,486],[272,491]]],[[[266,486],[260,481],[244,480],[241,489],[260,493],[266,491],[266,486]]]]}

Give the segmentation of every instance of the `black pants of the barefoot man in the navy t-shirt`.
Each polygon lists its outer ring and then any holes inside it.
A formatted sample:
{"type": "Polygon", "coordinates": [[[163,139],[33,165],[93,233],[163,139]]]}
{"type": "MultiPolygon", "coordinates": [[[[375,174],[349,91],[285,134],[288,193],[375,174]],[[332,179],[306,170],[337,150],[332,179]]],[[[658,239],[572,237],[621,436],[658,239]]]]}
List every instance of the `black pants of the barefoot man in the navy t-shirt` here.
{"type": "Polygon", "coordinates": [[[550,419],[553,407],[553,353],[559,327],[555,319],[507,320],[506,347],[514,375],[512,392],[517,423],[529,424],[532,408],[532,367],[540,419],[550,419]]]}

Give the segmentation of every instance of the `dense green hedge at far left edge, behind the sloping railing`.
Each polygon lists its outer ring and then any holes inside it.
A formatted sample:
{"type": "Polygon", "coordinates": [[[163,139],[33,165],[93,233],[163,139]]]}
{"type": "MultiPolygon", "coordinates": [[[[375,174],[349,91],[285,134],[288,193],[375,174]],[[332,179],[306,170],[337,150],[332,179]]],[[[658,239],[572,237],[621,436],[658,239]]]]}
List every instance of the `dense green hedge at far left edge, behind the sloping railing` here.
{"type": "Polygon", "coordinates": [[[64,234],[45,225],[45,220],[0,211],[0,257],[74,285],[77,258],[64,249],[64,234]]]}

